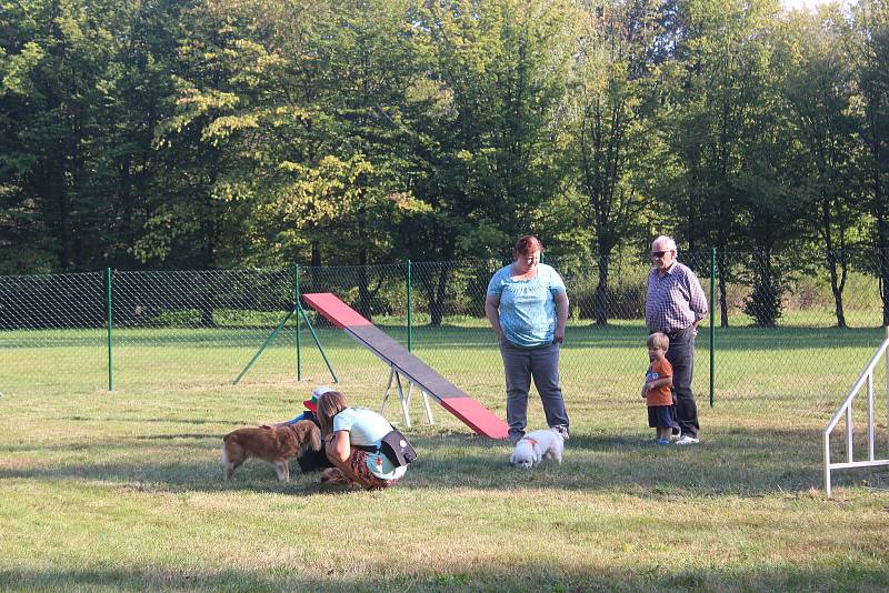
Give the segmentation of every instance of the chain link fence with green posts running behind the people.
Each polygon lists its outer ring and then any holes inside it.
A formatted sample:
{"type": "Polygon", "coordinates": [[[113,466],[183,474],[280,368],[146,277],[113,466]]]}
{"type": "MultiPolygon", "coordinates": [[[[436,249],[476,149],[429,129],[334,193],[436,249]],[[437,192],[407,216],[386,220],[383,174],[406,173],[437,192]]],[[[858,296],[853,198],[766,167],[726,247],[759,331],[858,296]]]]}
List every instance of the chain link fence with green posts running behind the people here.
{"type": "MultiPolygon", "coordinates": [[[[700,408],[712,386],[717,408],[830,416],[885,336],[887,259],[819,258],[680,253],[708,298],[713,289],[713,331],[708,316],[697,340],[700,408]]],[[[569,411],[595,416],[615,406],[637,423],[648,362],[648,259],[617,257],[607,270],[547,263],[562,274],[571,301],[561,359],[569,411]]],[[[311,310],[290,314],[297,294],[332,292],[501,411],[502,366],[483,308],[501,265],[0,277],[0,391],[220,388],[240,375],[260,386],[331,382],[329,362],[342,384],[381,393],[389,369],[372,353],[311,310]]]]}

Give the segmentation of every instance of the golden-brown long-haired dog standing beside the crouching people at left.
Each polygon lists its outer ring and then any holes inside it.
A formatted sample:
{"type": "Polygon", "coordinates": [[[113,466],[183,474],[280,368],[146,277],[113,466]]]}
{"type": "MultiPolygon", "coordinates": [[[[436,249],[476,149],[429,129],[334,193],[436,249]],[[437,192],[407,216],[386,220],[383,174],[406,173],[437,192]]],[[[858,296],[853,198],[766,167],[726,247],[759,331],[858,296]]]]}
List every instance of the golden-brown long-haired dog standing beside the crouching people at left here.
{"type": "Polygon", "coordinates": [[[321,431],[310,420],[269,429],[238,429],[228,433],[222,444],[226,480],[233,480],[234,470],[250,458],[258,458],[274,468],[278,480],[290,481],[290,460],[309,451],[321,450],[321,431]]]}

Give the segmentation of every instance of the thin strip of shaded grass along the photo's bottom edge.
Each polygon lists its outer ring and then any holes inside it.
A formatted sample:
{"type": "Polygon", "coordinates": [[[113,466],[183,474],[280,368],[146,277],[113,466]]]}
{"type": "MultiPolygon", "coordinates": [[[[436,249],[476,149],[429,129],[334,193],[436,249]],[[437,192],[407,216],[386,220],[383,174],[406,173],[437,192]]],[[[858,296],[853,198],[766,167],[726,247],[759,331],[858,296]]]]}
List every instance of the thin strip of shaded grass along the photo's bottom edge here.
{"type": "MultiPolygon", "coordinates": [[[[306,571],[308,572],[308,571],[306,571]]],[[[601,563],[583,569],[567,569],[540,562],[509,566],[481,566],[418,570],[407,566],[387,579],[344,576],[340,567],[304,575],[247,570],[0,570],[4,591],[635,591],[635,590],[750,590],[750,591],[863,591],[886,586],[887,571],[842,563],[820,570],[795,565],[770,569],[687,569],[615,566],[601,563]]]]}

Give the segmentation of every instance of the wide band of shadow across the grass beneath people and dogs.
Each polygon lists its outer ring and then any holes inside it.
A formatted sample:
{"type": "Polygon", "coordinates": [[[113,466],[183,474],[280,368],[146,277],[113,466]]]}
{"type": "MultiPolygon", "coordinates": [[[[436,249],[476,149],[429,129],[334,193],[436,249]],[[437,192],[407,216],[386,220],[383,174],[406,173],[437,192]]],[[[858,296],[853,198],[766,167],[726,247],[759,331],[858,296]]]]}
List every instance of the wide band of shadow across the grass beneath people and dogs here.
{"type": "MultiPolygon", "coordinates": [[[[646,495],[759,496],[821,488],[818,430],[730,429],[708,433],[699,445],[657,448],[649,435],[576,434],[565,462],[545,461],[533,470],[509,464],[512,446],[458,432],[411,436],[420,459],[398,488],[490,491],[589,490],[646,495]]],[[[250,460],[222,480],[219,434],[154,434],[93,443],[32,444],[3,451],[47,452],[42,465],[0,468],[0,479],[101,480],[151,491],[230,491],[311,494],[326,491],[318,473],[281,483],[263,462],[250,460]],[[71,453],[67,459],[67,453],[71,453]],[[90,459],[84,461],[84,454],[90,459]],[[109,455],[116,461],[108,462],[109,455]]],[[[836,475],[842,485],[852,474],[836,475]]],[[[855,474],[859,479],[862,474],[855,474]]],[[[869,474],[863,474],[869,475],[869,474]]],[[[857,482],[860,483],[860,480],[857,482]]]]}

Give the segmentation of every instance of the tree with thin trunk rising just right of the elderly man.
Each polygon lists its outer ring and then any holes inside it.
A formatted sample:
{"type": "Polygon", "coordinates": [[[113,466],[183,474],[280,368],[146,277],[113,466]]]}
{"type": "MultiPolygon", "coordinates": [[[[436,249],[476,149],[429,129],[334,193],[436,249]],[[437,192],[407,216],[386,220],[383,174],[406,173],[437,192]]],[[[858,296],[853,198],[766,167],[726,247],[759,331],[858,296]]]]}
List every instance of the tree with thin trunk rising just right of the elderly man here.
{"type": "MultiPolygon", "coordinates": [[[[663,192],[675,198],[679,235],[693,251],[717,249],[720,324],[728,326],[728,253],[748,244],[740,215],[745,189],[745,139],[751,138],[765,84],[762,60],[772,0],[680,0],[675,16],[676,68],[668,80],[663,111],[667,139],[676,154],[675,173],[663,192]]],[[[746,181],[745,185],[750,187],[746,181]]],[[[747,202],[750,205],[752,202],[747,202]]]]}

